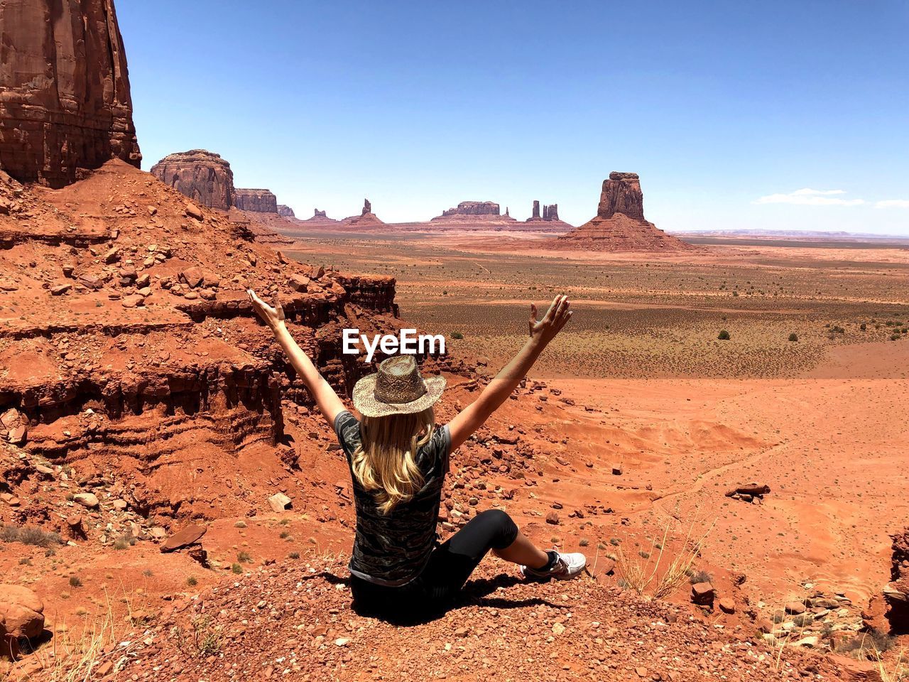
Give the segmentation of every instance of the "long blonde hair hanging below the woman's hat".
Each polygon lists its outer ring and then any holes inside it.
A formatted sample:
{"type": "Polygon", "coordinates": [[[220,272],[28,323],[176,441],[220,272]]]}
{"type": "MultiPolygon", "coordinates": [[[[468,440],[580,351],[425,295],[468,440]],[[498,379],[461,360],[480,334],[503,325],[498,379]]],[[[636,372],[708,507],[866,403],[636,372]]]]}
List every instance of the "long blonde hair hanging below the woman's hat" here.
{"type": "Polygon", "coordinates": [[[381,514],[391,513],[423,487],[416,455],[433,437],[434,430],[432,407],[412,415],[363,417],[361,444],[351,456],[351,468],[360,485],[375,492],[381,514]]]}

